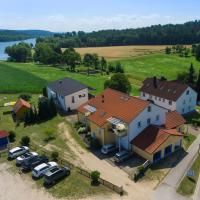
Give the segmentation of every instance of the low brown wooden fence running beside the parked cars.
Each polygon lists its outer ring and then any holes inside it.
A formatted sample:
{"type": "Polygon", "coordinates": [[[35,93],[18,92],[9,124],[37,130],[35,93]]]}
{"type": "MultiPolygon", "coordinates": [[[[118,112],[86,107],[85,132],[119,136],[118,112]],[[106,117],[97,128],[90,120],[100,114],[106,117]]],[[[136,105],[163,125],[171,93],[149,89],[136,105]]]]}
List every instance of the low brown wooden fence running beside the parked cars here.
{"type": "MultiPolygon", "coordinates": [[[[42,149],[42,147],[39,147],[39,146],[37,146],[37,145],[35,145],[35,144],[31,144],[31,145],[30,145],[30,148],[31,148],[32,150],[34,150],[34,151],[36,151],[36,150],[38,150],[38,148],[40,148],[40,151],[41,151],[43,154],[45,154],[45,155],[47,155],[47,156],[49,156],[49,157],[51,156],[51,153],[52,153],[52,152],[50,152],[50,151],[47,151],[47,150],[42,149]]],[[[85,176],[85,177],[91,179],[91,172],[89,172],[89,171],[87,171],[87,170],[85,170],[85,169],[82,169],[82,168],[80,168],[80,167],[75,166],[74,164],[72,164],[71,162],[67,161],[66,159],[58,158],[58,163],[61,164],[61,165],[66,165],[66,166],[68,166],[68,167],[71,168],[71,169],[77,169],[78,173],[80,173],[81,175],[83,175],[83,176],[85,176]]],[[[119,186],[117,186],[117,185],[114,185],[114,184],[112,184],[111,182],[106,181],[106,180],[104,180],[104,179],[102,179],[102,178],[99,178],[99,182],[100,182],[102,185],[104,185],[105,187],[107,187],[107,188],[113,190],[114,192],[116,192],[116,193],[118,193],[118,194],[120,194],[120,195],[123,195],[123,193],[124,193],[123,187],[119,187],[119,186]]]]}

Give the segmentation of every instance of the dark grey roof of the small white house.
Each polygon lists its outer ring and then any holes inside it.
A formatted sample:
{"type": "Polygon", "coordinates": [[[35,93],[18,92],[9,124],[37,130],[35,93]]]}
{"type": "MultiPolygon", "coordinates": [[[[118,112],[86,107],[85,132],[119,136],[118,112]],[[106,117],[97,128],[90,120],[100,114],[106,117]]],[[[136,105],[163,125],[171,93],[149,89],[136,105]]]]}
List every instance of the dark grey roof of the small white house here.
{"type": "Polygon", "coordinates": [[[51,90],[53,90],[55,93],[62,96],[67,96],[75,92],[78,92],[80,90],[89,88],[88,86],[71,78],[63,78],[63,79],[54,81],[50,83],[48,87],[51,90]]]}

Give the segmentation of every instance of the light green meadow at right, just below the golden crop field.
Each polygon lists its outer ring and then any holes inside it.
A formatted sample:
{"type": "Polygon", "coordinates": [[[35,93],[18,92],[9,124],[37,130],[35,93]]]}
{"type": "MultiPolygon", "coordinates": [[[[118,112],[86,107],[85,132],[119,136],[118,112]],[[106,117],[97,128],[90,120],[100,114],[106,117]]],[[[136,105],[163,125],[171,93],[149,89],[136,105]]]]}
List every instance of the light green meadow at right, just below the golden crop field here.
{"type": "Polygon", "coordinates": [[[194,64],[196,70],[200,68],[200,62],[196,61],[194,57],[182,58],[166,54],[122,59],[120,62],[134,84],[141,84],[145,77],[155,75],[175,79],[178,73],[187,71],[191,63],[194,64]]]}

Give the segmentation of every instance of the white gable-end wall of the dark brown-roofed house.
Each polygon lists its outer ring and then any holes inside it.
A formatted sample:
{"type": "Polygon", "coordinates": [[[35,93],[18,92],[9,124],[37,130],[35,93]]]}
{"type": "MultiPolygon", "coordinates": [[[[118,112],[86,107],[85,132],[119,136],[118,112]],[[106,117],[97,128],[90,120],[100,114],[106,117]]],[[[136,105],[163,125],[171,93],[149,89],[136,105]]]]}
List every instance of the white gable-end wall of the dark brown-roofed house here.
{"type": "Polygon", "coordinates": [[[180,114],[186,114],[195,110],[197,102],[197,93],[190,87],[180,96],[176,102],[176,110],[180,114]],[[187,91],[189,90],[189,95],[187,91]]]}

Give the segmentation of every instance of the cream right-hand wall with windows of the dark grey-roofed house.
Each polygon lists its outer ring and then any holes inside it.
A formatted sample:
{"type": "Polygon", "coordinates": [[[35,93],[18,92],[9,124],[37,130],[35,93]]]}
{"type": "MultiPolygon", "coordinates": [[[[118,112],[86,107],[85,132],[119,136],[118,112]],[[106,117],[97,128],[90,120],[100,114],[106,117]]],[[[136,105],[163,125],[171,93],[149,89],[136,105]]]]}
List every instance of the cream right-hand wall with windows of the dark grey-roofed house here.
{"type": "Polygon", "coordinates": [[[76,93],[70,94],[65,97],[66,110],[76,110],[79,106],[88,101],[88,88],[80,90],[76,93]],[[85,97],[79,97],[79,95],[85,95],[85,97]],[[74,103],[72,103],[72,97],[74,96],[74,103]]]}

